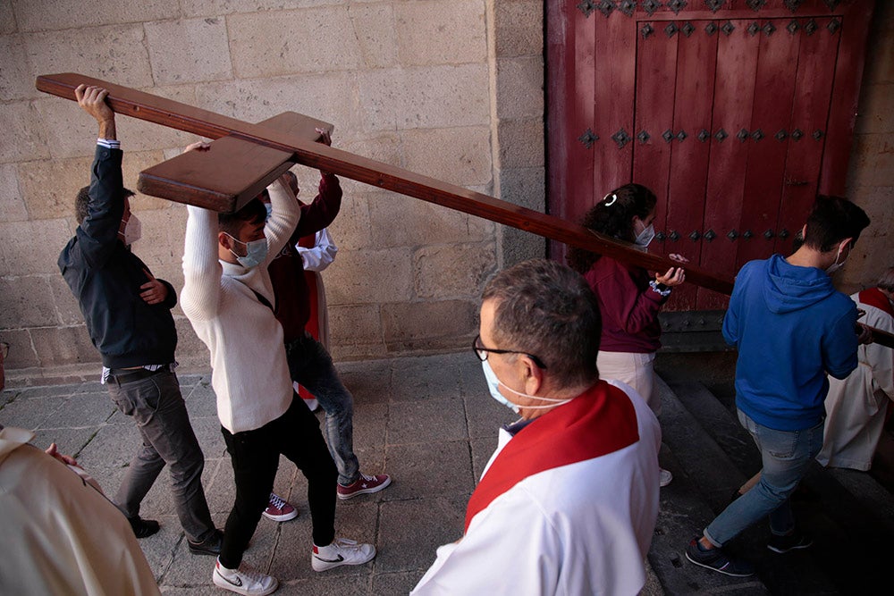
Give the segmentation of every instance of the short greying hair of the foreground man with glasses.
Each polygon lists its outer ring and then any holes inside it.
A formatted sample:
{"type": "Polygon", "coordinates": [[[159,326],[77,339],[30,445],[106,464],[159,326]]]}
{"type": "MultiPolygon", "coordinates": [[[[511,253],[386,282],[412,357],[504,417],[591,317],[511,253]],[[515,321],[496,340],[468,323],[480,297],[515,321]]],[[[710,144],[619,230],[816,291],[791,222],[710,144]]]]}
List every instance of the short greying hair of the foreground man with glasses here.
{"type": "Polygon", "coordinates": [[[602,317],[581,275],[547,259],[523,261],[494,275],[482,299],[495,302],[499,348],[538,357],[561,388],[599,379],[602,317]]]}

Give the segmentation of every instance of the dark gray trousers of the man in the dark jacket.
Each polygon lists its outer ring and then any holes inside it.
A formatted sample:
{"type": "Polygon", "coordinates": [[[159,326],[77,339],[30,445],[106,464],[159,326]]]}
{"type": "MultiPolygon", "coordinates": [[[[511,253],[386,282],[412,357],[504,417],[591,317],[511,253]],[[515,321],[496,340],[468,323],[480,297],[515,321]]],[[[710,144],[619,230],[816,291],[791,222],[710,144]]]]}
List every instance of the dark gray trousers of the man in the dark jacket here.
{"type": "Polygon", "coordinates": [[[167,464],[183,531],[190,541],[207,539],[215,525],[202,488],[205,455],[192,431],[177,375],[158,371],[122,385],[110,378],[107,387],[122,414],[137,423],[143,439],[115,494],[115,505],[128,518],[139,516],[140,502],[167,464]]]}

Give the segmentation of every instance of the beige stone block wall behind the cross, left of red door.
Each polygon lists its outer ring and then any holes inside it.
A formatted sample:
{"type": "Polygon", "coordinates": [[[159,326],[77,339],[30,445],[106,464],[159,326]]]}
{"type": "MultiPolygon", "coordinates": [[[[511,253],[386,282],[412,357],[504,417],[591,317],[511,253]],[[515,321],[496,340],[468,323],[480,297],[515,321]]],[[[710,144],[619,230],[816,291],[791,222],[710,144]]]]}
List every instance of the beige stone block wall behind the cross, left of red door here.
{"type": "MultiPolygon", "coordinates": [[[[542,22],[540,2],[511,0],[0,0],[0,339],[13,381],[95,374],[98,361],[55,264],[97,125],[39,93],[38,74],[81,72],[250,122],[307,113],[333,122],[336,147],[543,210],[542,22]]],[[[131,186],[195,140],[118,120],[131,186]]],[[[312,198],[316,172],[295,170],[312,198]]],[[[544,254],[541,239],[342,185],[340,252],[324,274],[337,359],[468,345],[487,276],[544,254]]],[[[180,289],[185,208],[132,206],[135,252],[180,289]]],[[[207,366],[174,315],[178,358],[207,366]]]]}

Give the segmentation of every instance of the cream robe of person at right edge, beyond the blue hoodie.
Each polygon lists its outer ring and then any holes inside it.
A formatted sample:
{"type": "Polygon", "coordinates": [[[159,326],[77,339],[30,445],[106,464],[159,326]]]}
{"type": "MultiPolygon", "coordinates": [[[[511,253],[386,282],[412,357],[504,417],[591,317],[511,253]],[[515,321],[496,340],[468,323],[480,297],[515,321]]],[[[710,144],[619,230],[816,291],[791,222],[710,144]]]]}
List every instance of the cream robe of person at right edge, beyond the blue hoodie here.
{"type": "MultiPolygon", "coordinates": [[[[857,308],[866,311],[861,323],[894,332],[894,317],[889,313],[861,302],[859,292],[851,298],[857,308]]],[[[822,466],[868,470],[881,438],[888,400],[894,399],[894,349],[875,343],[861,345],[857,357],[859,365],[848,378],[829,377],[822,450],[816,456],[822,466]]]]}

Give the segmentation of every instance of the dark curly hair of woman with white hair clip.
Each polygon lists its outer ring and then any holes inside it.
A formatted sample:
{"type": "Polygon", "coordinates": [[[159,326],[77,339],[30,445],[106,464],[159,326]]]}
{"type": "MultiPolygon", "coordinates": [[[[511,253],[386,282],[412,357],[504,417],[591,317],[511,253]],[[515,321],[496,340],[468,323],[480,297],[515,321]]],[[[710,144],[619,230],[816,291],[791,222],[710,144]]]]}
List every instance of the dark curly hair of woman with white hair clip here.
{"type": "MultiPolygon", "coordinates": [[[[603,197],[603,200],[590,207],[581,218],[580,224],[587,230],[632,242],[634,216],[645,220],[657,203],[655,193],[642,184],[625,184],[612,190],[603,197]]],[[[599,257],[583,248],[570,247],[567,260],[569,267],[584,274],[599,260],[599,257]]]]}

